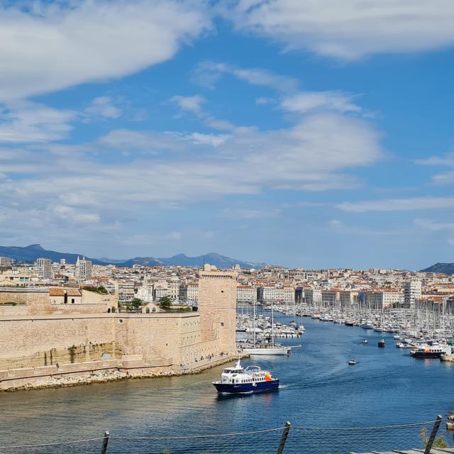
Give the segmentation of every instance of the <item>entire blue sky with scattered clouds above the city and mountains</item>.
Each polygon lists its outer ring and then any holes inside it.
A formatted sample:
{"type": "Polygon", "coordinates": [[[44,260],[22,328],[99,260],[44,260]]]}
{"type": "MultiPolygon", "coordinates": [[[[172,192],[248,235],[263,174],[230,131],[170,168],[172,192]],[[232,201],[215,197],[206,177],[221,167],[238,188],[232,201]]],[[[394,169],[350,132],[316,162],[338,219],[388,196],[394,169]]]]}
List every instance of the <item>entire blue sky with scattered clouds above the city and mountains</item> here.
{"type": "Polygon", "coordinates": [[[0,0],[0,244],[454,262],[451,0],[0,0]]]}

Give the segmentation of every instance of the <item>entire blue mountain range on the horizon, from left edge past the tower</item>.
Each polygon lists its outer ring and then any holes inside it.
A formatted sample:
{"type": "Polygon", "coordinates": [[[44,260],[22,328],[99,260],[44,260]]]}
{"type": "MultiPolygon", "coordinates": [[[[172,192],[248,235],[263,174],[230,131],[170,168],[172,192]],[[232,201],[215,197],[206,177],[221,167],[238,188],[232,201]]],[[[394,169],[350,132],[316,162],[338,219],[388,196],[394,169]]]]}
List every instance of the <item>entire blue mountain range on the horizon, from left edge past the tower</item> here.
{"type": "MultiPolygon", "coordinates": [[[[39,244],[32,244],[21,248],[19,246],[0,246],[0,256],[9,257],[20,262],[35,262],[37,258],[50,258],[52,262],[58,262],[60,258],[64,258],[67,263],[75,263],[77,255],[82,257],[82,254],[67,254],[59,253],[55,250],[45,250],[39,244]]],[[[226,257],[216,253],[198,255],[197,257],[188,257],[184,254],[177,254],[173,257],[135,257],[129,260],[109,259],[109,258],[89,258],[95,265],[113,264],[118,267],[132,267],[133,265],[143,265],[148,267],[153,266],[187,266],[187,267],[202,267],[204,263],[215,265],[218,268],[231,268],[234,265],[240,265],[242,268],[262,268],[265,263],[244,262],[234,258],[226,257]]]]}

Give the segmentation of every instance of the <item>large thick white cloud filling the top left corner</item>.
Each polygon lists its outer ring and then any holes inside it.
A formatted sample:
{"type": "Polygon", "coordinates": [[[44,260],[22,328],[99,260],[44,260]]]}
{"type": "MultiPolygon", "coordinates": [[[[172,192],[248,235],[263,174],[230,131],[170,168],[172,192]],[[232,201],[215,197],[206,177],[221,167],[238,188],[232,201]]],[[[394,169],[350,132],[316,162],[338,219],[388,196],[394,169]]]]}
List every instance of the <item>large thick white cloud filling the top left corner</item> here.
{"type": "Polygon", "coordinates": [[[0,101],[132,74],[210,26],[205,4],[190,0],[0,6],[0,101]]]}

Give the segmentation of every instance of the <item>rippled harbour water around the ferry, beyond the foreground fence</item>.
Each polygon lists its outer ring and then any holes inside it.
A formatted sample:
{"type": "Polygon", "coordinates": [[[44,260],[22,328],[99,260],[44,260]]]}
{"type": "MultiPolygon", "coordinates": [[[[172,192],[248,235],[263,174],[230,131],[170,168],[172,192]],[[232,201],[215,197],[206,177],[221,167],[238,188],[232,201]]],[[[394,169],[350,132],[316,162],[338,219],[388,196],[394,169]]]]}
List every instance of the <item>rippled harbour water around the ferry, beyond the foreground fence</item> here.
{"type": "MultiPolygon", "coordinates": [[[[275,314],[282,323],[292,319],[275,314]]],[[[301,322],[304,336],[279,340],[301,345],[289,357],[243,360],[279,377],[278,392],[220,397],[211,385],[223,369],[216,367],[184,377],[2,393],[0,444],[96,438],[105,430],[112,436],[258,431],[285,421],[326,428],[383,426],[431,421],[453,409],[454,363],[410,358],[409,350],[394,346],[391,334],[384,334],[386,347],[378,348],[381,333],[309,318],[301,322]],[[353,358],[357,364],[348,365],[353,358]]],[[[118,452],[155,452],[122,443],[115,443],[118,452]]]]}

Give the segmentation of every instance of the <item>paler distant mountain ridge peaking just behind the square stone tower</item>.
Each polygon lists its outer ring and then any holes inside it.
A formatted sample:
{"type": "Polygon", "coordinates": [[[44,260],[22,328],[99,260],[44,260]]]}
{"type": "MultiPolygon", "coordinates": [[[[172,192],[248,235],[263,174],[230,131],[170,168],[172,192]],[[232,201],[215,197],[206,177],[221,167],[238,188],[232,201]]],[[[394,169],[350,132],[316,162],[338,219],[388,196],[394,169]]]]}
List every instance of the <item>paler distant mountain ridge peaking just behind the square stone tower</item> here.
{"type": "Polygon", "coordinates": [[[215,265],[218,268],[231,268],[234,265],[240,265],[242,268],[262,268],[265,263],[244,262],[234,258],[226,257],[216,253],[198,255],[196,257],[188,257],[185,254],[177,254],[173,257],[135,257],[131,260],[126,260],[123,263],[117,263],[118,266],[132,267],[133,265],[143,265],[148,267],[159,265],[170,266],[186,266],[186,267],[203,267],[204,263],[215,265]]]}

